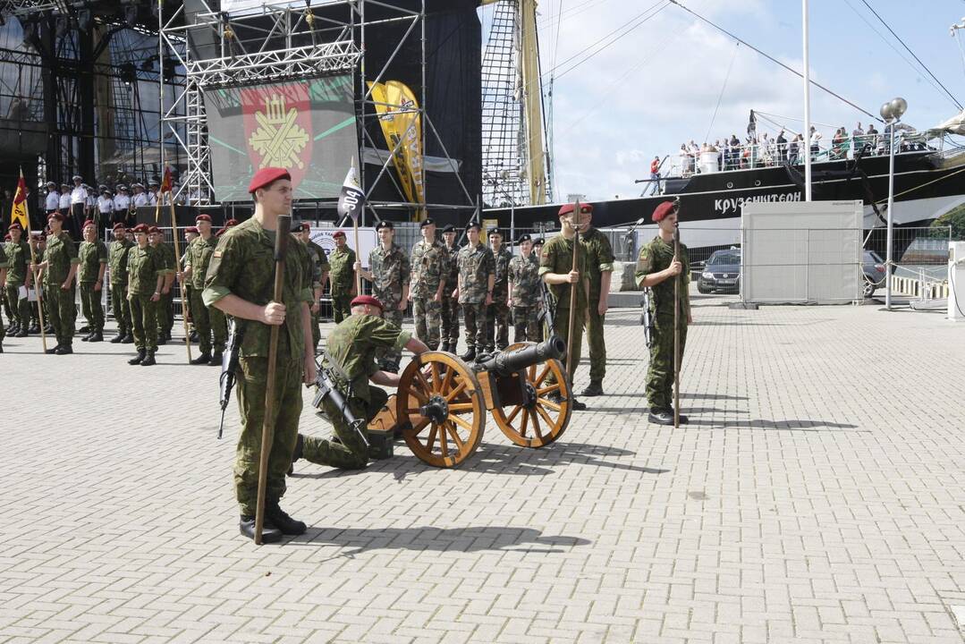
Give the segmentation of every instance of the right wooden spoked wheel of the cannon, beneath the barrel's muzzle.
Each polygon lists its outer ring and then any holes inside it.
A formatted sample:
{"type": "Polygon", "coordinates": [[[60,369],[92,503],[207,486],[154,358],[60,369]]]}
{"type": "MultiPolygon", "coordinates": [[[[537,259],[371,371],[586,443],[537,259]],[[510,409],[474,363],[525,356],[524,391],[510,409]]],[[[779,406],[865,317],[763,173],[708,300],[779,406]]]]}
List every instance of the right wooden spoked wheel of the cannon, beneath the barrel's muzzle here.
{"type": "MultiPolygon", "coordinates": [[[[519,342],[510,345],[506,350],[522,349],[532,344],[534,343],[519,342]]],[[[573,411],[565,367],[562,362],[553,359],[531,365],[521,373],[526,378],[527,389],[531,394],[535,393],[536,400],[530,406],[514,405],[506,408],[497,406],[492,409],[493,418],[496,419],[496,424],[503,434],[517,445],[523,447],[549,445],[563,434],[569,424],[569,415],[573,411]],[[556,383],[546,382],[550,374],[556,378],[556,383]],[[548,398],[557,392],[563,397],[559,405],[548,398]]]]}

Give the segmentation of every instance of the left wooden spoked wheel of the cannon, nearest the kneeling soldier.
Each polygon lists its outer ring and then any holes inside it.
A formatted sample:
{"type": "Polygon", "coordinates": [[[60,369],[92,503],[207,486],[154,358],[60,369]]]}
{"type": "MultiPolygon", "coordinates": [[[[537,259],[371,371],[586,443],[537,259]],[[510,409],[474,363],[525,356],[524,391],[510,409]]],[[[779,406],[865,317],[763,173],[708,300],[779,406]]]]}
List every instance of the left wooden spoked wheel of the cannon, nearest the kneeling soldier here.
{"type": "Polygon", "coordinates": [[[402,372],[396,417],[409,418],[405,444],[421,461],[455,467],[479,447],[485,426],[476,375],[451,353],[427,351],[402,372]],[[423,370],[428,367],[428,376],[423,370]]]}

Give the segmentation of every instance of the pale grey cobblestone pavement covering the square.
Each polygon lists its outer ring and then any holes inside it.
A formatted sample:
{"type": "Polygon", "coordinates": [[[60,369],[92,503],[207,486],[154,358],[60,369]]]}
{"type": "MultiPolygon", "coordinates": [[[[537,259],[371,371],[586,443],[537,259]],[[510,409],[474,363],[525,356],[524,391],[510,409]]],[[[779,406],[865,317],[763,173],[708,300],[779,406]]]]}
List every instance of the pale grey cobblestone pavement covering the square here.
{"type": "Polygon", "coordinates": [[[559,443],[490,420],[455,470],[299,462],[309,532],[261,547],[216,369],[8,338],[0,641],[962,642],[965,325],[726,301],[695,301],[691,425],[648,426],[638,312],[614,311],[608,395],[559,443]]]}

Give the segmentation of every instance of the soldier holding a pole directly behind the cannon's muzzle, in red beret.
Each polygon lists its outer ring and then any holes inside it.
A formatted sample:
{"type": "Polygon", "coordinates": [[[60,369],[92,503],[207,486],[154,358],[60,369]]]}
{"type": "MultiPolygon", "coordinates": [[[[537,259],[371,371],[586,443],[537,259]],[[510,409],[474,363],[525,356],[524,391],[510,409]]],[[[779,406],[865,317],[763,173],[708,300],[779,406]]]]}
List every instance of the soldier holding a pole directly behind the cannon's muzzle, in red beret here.
{"type": "MultiPolygon", "coordinates": [[[[550,239],[543,246],[539,257],[539,275],[549,286],[550,294],[555,302],[553,314],[553,333],[560,337],[568,348],[569,334],[573,334],[573,352],[565,356],[567,372],[576,374],[580,364],[580,353],[583,343],[583,323],[587,316],[587,294],[590,292],[590,281],[587,278],[587,254],[582,247],[576,249],[576,269],[573,269],[573,243],[577,229],[585,228],[586,215],[593,211],[589,204],[580,207],[580,212],[573,212],[573,204],[565,204],[560,209],[561,234],[550,239]],[[573,328],[569,328],[570,289],[576,289],[576,311],[573,328]]],[[[552,375],[547,382],[555,382],[552,375]]],[[[570,382],[572,386],[572,382],[570,382]]],[[[551,400],[559,401],[559,392],[550,396],[551,400]]],[[[587,406],[576,400],[571,400],[574,409],[586,409],[587,406]]]]}

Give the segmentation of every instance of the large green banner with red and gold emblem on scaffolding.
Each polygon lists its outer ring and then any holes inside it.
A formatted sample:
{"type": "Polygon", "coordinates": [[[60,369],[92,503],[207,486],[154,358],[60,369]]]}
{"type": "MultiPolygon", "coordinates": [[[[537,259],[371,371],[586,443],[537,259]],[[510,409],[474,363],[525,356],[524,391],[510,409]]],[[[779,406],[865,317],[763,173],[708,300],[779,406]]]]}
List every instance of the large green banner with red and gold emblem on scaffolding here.
{"type": "Polygon", "coordinates": [[[288,168],[295,199],[336,198],[358,155],[350,75],[205,92],[214,197],[248,201],[251,176],[288,168]]]}

